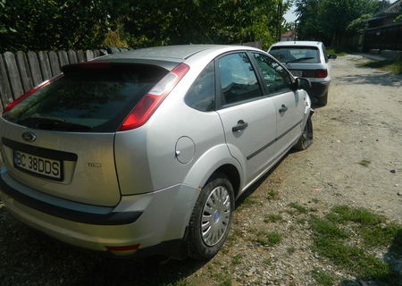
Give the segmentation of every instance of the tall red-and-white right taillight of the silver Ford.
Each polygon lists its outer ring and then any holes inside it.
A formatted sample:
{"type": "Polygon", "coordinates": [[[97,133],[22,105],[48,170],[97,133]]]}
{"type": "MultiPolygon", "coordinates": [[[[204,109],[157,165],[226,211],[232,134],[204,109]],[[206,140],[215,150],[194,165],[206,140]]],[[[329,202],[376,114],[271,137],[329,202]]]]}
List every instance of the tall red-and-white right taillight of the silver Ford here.
{"type": "Polygon", "coordinates": [[[165,75],[131,110],[118,131],[132,130],[144,125],[188,70],[189,66],[186,63],[180,63],[165,75]]]}

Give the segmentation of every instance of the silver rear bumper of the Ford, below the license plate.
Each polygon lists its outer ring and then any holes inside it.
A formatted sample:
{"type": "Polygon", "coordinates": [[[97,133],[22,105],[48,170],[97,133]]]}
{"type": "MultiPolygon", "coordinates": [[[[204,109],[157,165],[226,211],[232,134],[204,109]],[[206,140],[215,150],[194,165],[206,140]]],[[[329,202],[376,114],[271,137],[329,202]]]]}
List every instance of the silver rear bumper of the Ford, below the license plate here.
{"type": "MultiPolygon", "coordinates": [[[[49,212],[41,210],[40,207],[32,207],[32,199],[36,200],[38,204],[44,203],[44,200],[32,198],[27,193],[23,195],[28,196],[28,200],[16,195],[21,194],[21,191],[13,187],[18,186],[19,183],[8,175],[5,168],[0,172],[0,181],[1,200],[22,223],[45,232],[57,240],[80,248],[106,251],[106,247],[139,245],[138,255],[147,254],[149,252],[147,249],[154,249],[150,252],[152,254],[170,255],[169,252],[172,252],[172,248],[158,246],[165,245],[166,243],[163,243],[165,241],[175,241],[174,244],[177,245],[176,242],[183,239],[189,217],[199,194],[197,188],[176,185],[143,195],[123,196],[121,202],[109,212],[109,216],[103,217],[93,213],[94,210],[99,210],[96,207],[104,208],[103,206],[88,205],[83,216],[88,216],[92,212],[96,220],[102,220],[102,218],[105,221],[109,220],[109,223],[96,224],[94,222],[78,222],[67,219],[63,215],[49,214],[49,212]],[[13,192],[10,189],[13,189],[13,192]],[[29,201],[28,204],[27,201],[29,201]],[[122,221],[116,220],[117,224],[111,224],[112,214],[117,217],[135,218],[135,220],[131,223],[122,223],[122,221]],[[136,215],[133,216],[132,214],[136,215]]],[[[74,205],[73,202],[65,201],[63,208],[67,212],[72,211],[74,215],[78,215],[74,205]]]]}

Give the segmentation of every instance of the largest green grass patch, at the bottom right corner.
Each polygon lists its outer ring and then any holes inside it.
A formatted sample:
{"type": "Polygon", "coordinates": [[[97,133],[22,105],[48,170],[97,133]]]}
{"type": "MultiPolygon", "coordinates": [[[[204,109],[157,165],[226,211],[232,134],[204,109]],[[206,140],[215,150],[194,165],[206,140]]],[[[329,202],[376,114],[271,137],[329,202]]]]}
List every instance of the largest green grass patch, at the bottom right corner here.
{"type": "Polygon", "coordinates": [[[389,252],[399,251],[397,254],[402,257],[402,241],[398,242],[398,237],[402,238],[402,225],[387,224],[379,214],[349,206],[335,206],[323,219],[312,215],[309,223],[313,231],[313,248],[320,256],[330,258],[335,265],[358,279],[375,280],[380,282],[379,285],[402,282],[399,273],[370,252],[370,248],[390,245],[389,252]],[[352,234],[364,243],[350,245],[352,234]]]}

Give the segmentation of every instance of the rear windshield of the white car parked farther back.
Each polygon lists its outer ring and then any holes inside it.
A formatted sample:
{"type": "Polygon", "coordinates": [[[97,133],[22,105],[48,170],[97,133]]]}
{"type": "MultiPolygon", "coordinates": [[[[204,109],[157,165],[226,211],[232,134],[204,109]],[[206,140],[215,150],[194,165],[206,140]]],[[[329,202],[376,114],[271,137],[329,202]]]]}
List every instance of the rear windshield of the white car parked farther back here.
{"type": "Polygon", "coordinates": [[[272,46],[270,54],[281,63],[321,63],[314,46],[272,46]]]}

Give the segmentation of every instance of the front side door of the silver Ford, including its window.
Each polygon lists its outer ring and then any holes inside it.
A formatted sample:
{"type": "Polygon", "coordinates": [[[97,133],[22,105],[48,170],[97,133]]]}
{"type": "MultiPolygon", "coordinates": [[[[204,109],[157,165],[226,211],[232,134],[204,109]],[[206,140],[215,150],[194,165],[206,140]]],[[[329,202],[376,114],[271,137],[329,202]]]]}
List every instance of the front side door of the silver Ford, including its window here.
{"type": "Polygon", "coordinates": [[[280,63],[270,56],[252,53],[259,67],[267,96],[272,98],[276,114],[274,152],[281,156],[301,135],[306,93],[293,88],[292,79],[280,63]]]}

